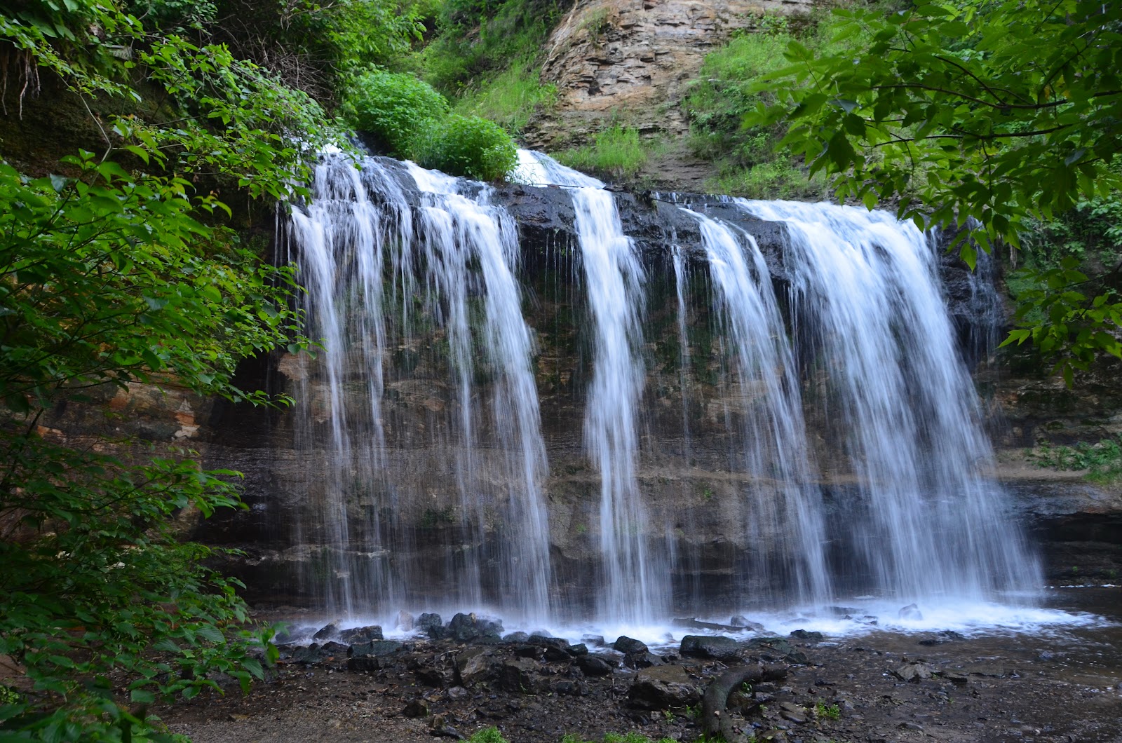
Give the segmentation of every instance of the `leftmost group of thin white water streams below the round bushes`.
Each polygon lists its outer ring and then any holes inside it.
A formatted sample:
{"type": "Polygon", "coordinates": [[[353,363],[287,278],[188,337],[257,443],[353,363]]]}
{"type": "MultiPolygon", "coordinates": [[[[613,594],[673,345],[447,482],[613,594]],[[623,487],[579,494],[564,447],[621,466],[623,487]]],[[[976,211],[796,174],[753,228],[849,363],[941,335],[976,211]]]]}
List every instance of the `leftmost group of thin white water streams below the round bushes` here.
{"type": "MultiPolygon", "coordinates": [[[[448,575],[442,578],[454,587],[450,603],[495,602],[496,595],[485,595],[489,583],[516,597],[504,602],[506,613],[541,622],[549,615],[549,532],[541,495],[546,461],[531,372],[533,340],[513,273],[518,256],[514,226],[500,209],[487,205],[486,189],[469,199],[458,193],[456,178],[410,164],[422,199],[414,219],[398,176],[371,158],[361,167],[360,176],[349,158],[327,157],[316,171],[314,200],[294,209],[292,218],[300,279],[309,288],[309,334],[322,338],[324,347],[318,365],[323,392],[305,389],[301,420],[304,446],[319,443],[327,451],[327,478],[310,494],[322,504],[318,517],[332,548],[333,575],[316,578],[327,605],[332,612],[370,614],[407,600],[411,584],[426,579],[414,566],[390,565],[395,556],[385,549],[416,549],[417,534],[394,523],[401,521],[395,512],[406,498],[423,501],[425,485],[413,483],[420,473],[388,461],[388,419],[401,429],[398,437],[433,429],[427,443],[434,456],[450,455],[454,461],[450,469],[460,512],[423,516],[459,521],[459,535],[467,536],[452,545],[443,566],[448,575]],[[385,302],[387,281],[396,297],[392,303],[385,302]],[[406,366],[417,364],[416,333],[426,323],[434,323],[447,342],[443,361],[454,392],[444,420],[425,414],[416,422],[383,410],[390,350],[385,318],[395,308],[393,350],[406,366]],[[491,377],[490,415],[477,400],[480,366],[491,377]],[[480,431],[484,426],[493,433],[480,431]],[[327,440],[316,441],[324,433],[327,440]],[[381,543],[355,545],[353,490],[376,487],[392,494],[393,503],[381,504],[388,510],[365,511],[376,517],[388,511],[390,523],[365,524],[362,531],[377,535],[368,542],[381,543]],[[500,513],[491,513],[496,508],[500,513]],[[497,572],[486,580],[480,575],[485,562],[497,572]]],[[[402,385],[396,387],[398,393],[402,385]]]]}

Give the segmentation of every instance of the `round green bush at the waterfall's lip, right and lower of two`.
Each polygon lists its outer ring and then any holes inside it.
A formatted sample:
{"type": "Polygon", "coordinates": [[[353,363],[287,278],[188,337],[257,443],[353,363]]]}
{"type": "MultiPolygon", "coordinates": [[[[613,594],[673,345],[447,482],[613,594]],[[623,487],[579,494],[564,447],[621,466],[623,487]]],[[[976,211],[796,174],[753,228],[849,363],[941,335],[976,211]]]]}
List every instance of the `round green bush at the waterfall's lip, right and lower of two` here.
{"type": "Polygon", "coordinates": [[[414,155],[425,167],[479,181],[502,180],[518,164],[514,140],[500,126],[458,113],[431,122],[414,155]]]}

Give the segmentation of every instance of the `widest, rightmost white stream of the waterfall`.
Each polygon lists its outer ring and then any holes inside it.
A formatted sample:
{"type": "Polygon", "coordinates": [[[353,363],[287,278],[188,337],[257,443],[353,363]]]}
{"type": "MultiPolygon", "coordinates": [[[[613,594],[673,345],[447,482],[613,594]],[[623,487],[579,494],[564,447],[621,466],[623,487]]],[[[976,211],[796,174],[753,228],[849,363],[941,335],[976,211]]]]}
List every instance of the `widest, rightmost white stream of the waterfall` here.
{"type": "Polygon", "coordinates": [[[857,486],[831,530],[849,547],[835,572],[903,600],[1039,585],[1005,498],[985,477],[993,455],[926,237],[886,212],[737,203],[787,227],[792,312],[815,334],[815,372],[842,415],[857,486]]]}

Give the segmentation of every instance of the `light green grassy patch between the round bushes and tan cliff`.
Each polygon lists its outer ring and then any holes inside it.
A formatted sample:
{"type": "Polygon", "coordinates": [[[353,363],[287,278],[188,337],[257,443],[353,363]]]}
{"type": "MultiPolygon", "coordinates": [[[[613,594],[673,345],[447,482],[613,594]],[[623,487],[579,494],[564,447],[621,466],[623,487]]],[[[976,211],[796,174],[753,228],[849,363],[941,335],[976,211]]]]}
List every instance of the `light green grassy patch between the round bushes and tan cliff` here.
{"type": "Polygon", "coordinates": [[[535,111],[557,100],[557,86],[543,84],[532,59],[518,59],[489,77],[478,89],[467,89],[456,111],[490,119],[507,131],[519,132],[535,111]]]}

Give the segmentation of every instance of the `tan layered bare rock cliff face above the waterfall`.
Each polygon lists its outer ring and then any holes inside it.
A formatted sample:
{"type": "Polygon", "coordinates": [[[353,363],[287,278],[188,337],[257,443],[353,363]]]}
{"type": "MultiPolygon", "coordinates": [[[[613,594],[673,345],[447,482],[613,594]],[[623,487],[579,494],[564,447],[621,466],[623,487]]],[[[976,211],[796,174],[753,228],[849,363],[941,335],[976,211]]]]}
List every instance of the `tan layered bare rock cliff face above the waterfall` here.
{"type": "Polygon", "coordinates": [[[613,121],[644,134],[682,135],[678,102],[715,46],[764,13],[808,13],[815,0],[579,1],[553,31],[542,79],[558,106],[526,131],[530,145],[555,149],[586,141],[613,121]]]}

